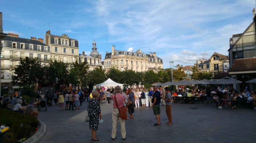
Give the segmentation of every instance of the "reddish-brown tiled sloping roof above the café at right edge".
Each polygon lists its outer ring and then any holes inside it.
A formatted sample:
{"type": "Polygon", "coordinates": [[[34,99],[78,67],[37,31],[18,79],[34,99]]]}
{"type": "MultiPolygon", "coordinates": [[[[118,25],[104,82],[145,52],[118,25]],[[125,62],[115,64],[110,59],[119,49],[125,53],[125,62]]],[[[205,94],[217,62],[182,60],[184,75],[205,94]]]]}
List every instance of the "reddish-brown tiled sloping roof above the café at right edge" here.
{"type": "Polygon", "coordinates": [[[237,59],[228,72],[256,70],[256,58],[237,59]]]}

